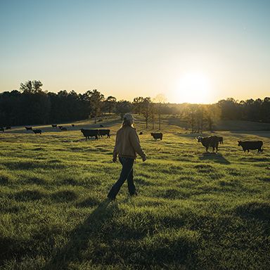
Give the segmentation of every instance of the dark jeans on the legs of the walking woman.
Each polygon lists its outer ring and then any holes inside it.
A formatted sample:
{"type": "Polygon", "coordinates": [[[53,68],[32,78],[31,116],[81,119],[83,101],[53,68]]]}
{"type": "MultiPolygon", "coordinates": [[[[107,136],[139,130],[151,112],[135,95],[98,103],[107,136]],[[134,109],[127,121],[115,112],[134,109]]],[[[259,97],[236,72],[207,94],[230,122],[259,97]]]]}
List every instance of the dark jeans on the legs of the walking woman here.
{"type": "Polygon", "coordinates": [[[108,193],[108,198],[115,199],[117,193],[120,191],[121,186],[124,184],[124,181],[127,179],[127,186],[129,188],[129,194],[136,194],[136,188],[133,181],[133,158],[121,158],[119,160],[122,164],[122,171],[117,182],[112,186],[110,192],[108,193]]]}

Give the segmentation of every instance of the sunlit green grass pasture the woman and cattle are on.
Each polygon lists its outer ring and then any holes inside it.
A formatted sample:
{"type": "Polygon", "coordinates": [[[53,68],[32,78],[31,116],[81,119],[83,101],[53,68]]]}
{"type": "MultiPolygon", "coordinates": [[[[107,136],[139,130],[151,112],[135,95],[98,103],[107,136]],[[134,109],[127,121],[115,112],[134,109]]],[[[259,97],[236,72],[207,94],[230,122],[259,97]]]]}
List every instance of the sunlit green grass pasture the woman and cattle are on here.
{"type": "Polygon", "coordinates": [[[108,203],[120,121],[107,121],[113,136],[98,141],[79,131],[91,122],[0,134],[0,269],[269,269],[269,131],[219,132],[224,145],[206,155],[184,129],[164,122],[154,141],[139,121],[139,195],[124,184],[108,203]]]}

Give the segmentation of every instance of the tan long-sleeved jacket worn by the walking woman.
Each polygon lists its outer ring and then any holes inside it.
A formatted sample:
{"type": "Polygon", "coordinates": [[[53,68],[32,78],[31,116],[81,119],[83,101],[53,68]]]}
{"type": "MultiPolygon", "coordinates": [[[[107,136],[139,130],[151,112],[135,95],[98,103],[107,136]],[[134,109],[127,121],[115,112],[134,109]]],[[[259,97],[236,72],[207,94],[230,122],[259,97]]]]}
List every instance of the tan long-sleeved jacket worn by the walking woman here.
{"type": "Polygon", "coordinates": [[[116,158],[117,155],[119,155],[122,158],[135,159],[136,153],[141,155],[141,158],[146,157],[143,149],[141,149],[140,140],[136,129],[129,126],[121,127],[116,134],[113,157],[116,158]]]}

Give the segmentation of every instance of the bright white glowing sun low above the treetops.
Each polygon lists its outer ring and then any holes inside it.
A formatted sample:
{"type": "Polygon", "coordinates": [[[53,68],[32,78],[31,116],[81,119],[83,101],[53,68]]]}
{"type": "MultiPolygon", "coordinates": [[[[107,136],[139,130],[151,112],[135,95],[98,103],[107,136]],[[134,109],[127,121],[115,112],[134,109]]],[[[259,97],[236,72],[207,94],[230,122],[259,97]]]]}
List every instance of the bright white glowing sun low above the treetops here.
{"type": "Polygon", "coordinates": [[[179,78],[174,92],[177,103],[210,103],[212,86],[203,73],[186,73],[179,78]]]}

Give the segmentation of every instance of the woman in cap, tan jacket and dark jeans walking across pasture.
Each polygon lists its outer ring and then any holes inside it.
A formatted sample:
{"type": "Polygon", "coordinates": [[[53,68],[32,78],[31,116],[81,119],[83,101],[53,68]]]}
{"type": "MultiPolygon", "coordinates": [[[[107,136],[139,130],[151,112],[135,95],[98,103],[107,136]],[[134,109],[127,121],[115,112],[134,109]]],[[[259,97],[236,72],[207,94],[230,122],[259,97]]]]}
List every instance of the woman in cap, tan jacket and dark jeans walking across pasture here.
{"type": "Polygon", "coordinates": [[[117,193],[120,191],[122,184],[127,179],[127,186],[130,195],[137,195],[133,181],[133,164],[138,153],[143,161],[146,161],[146,154],[141,149],[139,136],[133,125],[134,117],[130,113],[124,115],[122,127],[117,131],[115,139],[115,148],[113,150],[113,162],[117,161],[117,155],[122,164],[122,171],[117,182],[113,185],[108,193],[110,200],[115,200],[117,193]]]}

